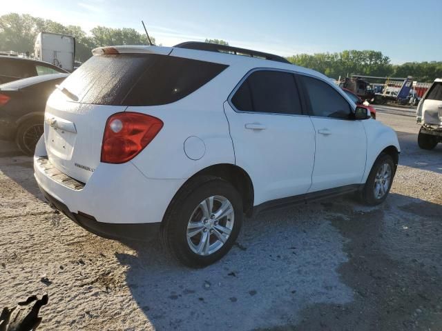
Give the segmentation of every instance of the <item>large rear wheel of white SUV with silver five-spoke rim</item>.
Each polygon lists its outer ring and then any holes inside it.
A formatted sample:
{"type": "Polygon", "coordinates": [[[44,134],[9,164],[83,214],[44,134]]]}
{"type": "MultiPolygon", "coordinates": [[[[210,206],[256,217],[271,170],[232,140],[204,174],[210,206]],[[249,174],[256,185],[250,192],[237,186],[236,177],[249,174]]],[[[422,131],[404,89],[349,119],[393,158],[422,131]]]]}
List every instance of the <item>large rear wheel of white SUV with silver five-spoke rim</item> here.
{"type": "Polygon", "coordinates": [[[229,252],[242,218],[242,199],[231,183],[197,177],[177,193],[166,211],[162,241],[178,261],[201,268],[229,252]]]}

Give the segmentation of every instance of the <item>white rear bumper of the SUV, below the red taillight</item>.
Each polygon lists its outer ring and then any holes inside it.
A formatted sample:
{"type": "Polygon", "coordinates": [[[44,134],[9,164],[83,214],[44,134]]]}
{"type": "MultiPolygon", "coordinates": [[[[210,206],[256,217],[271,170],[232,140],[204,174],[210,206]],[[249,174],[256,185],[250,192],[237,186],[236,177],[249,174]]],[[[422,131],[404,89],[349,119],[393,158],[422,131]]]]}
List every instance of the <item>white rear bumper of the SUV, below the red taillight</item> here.
{"type": "Polygon", "coordinates": [[[63,182],[57,171],[45,170],[41,165],[39,157],[46,154],[43,137],[37,143],[35,153],[35,179],[41,192],[88,230],[99,230],[101,225],[109,228],[110,224],[117,228],[117,225],[160,223],[170,201],[185,181],[149,179],[131,162],[100,163],[88,182],[78,187],[68,185],[69,182],[63,182]],[[88,217],[84,220],[84,215],[92,215],[94,222],[88,221],[88,217]]]}

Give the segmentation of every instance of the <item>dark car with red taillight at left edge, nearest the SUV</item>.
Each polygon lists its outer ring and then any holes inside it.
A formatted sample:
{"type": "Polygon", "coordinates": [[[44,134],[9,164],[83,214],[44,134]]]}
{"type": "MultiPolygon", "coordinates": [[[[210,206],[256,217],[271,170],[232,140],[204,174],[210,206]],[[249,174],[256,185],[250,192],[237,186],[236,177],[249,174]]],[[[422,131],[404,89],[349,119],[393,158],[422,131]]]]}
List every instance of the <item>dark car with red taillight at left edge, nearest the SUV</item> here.
{"type": "Polygon", "coordinates": [[[0,85],[0,139],[34,154],[44,128],[44,109],[55,86],[68,74],[45,74],[0,85]]]}

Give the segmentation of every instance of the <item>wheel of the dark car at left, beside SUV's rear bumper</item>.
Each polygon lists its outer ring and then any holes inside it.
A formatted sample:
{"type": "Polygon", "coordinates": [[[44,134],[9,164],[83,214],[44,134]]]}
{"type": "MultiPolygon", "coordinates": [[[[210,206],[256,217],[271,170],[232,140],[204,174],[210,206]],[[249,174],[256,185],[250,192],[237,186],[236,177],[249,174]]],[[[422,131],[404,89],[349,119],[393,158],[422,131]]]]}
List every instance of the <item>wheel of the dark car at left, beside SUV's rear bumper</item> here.
{"type": "Polygon", "coordinates": [[[30,119],[19,126],[15,143],[26,155],[34,155],[35,146],[44,132],[43,119],[30,119]]]}

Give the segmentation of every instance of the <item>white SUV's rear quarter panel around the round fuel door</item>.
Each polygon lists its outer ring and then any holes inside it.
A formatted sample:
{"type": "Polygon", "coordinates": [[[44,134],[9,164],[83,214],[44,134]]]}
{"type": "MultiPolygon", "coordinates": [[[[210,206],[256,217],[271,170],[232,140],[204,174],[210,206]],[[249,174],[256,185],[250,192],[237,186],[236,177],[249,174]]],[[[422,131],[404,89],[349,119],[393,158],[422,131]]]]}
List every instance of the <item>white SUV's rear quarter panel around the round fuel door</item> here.
{"type": "Polygon", "coordinates": [[[223,103],[236,83],[247,72],[227,68],[189,96],[162,106],[128,107],[164,122],[162,130],[132,162],[152,179],[184,179],[210,165],[235,164],[229,123],[223,103]],[[198,137],[204,142],[204,155],[190,159],[184,141],[198,137]]]}

